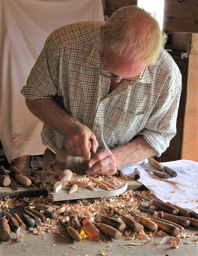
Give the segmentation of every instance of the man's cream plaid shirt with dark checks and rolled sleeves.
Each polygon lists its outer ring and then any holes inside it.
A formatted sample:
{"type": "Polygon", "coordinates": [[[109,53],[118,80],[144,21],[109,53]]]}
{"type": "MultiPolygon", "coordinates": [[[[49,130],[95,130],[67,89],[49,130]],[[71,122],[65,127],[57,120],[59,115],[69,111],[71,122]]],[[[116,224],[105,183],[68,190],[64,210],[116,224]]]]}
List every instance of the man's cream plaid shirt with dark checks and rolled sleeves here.
{"type": "MultiPolygon", "coordinates": [[[[110,79],[100,75],[102,24],[81,22],[55,30],[21,92],[30,100],[55,99],[68,114],[92,130],[98,150],[113,149],[143,135],[159,157],[176,134],[179,68],[162,50],[156,64],[146,68],[141,81],[133,86],[124,81],[109,93],[110,79]]],[[[45,124],[41,137],[54,152],[64,147],[66,140],[45,124]]]]}

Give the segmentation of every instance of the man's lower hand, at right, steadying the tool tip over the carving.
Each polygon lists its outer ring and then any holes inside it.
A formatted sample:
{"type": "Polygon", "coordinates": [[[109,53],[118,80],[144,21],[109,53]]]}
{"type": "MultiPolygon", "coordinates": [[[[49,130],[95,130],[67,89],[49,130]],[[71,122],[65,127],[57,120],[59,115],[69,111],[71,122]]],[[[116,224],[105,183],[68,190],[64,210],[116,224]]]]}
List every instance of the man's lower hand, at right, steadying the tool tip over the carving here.
{"type": "MultiPolygon", "coordinates": [[[[88,167],[91,168],[91,175],[102,174],[111,176],[116,173],[116,159],[109,149],[102,149],[88,162],[88,167]]],[[[87,172],[87,174],[89,174],[87,172]]]]}

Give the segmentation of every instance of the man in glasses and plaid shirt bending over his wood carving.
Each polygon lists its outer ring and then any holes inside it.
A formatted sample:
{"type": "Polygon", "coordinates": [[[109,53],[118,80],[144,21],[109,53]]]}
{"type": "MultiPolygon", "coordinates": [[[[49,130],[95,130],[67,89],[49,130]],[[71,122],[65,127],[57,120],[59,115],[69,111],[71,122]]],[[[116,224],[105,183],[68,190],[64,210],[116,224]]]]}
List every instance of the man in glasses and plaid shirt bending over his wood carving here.
{"type": "Polygon", "coordinates": [[[29,110],[44,122],[43,143],[84,156],[91,174],[112,175],[159,157],[176,133],[181,92],[165,42],[157,21],[135,6],[106,23],[55,30],[22,89],[29,110]]]}

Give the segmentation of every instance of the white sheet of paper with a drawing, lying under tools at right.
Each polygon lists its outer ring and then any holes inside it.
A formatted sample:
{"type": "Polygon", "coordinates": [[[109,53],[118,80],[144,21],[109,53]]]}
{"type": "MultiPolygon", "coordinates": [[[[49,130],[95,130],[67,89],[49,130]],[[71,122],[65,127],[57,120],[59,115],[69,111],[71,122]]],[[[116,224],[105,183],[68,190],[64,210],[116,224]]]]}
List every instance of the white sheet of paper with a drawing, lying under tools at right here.
{"type": "Polygon", "coordinates": [[[157,171],[150,164],[129,166],[123,168],[122,171],[127,176],[134,178],[134,169],[137,167],[141,174],[138,181],[155,196],[164,202],[171,202],[198,213],[198,163],[190,160],[178,160],[161,164],[174,169],[178,175],[169,180],[183,183],[183,186],[165,182],[151,172],[145,171],[144,169],[157,171]]]}

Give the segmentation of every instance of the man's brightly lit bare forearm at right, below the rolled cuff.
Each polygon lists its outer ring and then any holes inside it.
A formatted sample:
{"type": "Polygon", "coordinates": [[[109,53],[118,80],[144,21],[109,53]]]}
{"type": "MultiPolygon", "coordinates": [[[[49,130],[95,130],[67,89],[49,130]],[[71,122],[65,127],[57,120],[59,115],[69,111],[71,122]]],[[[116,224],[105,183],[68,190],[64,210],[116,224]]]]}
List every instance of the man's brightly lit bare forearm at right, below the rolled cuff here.
{"type": "Polygon", "coordinates": [[[116,148],[112,153],[116,158],[118,170],[122,167],[131,166],[145,158],[155,156],[157,152],[145,141],[143,136],[138,136],[123,147],[116,148]]]}

